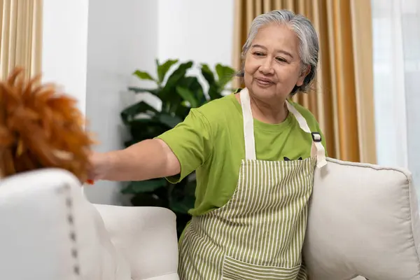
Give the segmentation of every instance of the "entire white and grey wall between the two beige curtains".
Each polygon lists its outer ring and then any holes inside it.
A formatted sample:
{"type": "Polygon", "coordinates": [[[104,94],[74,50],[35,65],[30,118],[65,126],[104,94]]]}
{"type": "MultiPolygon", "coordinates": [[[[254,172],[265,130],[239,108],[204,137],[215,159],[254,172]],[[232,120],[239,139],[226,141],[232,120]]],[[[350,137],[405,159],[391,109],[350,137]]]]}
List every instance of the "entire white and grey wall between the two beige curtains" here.
{"type": "MultiPolygon", "coordinates": [[[[135,69],[155,74],[157,57],[232,62],[234,0],[44,1],[44,80],[78,98],[97,151],[122,148],[120,111],[134,101],[127,87],[153,86],[134,78],[135,69]]],[[[101,181],[85,193],[94,203],[122,203],[120,183],[101,181]]]]}

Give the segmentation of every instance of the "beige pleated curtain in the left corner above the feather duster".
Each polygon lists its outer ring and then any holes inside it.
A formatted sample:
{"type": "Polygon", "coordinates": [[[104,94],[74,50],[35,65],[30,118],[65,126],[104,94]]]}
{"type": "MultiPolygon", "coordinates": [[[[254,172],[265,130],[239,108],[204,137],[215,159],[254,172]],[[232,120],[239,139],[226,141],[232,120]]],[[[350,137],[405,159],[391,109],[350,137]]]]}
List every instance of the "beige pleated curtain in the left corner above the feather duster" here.
{"type": "Polygon", "coordinates": [[[15,66],[41,73],[42,0],[0,0],[0,78],[15,66]]]}

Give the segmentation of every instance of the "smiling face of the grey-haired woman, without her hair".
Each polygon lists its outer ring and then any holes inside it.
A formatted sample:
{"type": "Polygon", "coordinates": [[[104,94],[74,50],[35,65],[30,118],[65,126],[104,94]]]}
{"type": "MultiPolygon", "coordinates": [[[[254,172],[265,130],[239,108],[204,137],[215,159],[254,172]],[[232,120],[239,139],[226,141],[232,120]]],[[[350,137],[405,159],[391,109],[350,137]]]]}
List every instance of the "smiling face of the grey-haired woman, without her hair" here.
{"type": "Polygon", "coordinates": [[[267,103],[285,101],[295,85],[303,84],[308,72],[302,71],[294,31],[274,23],[259,29],[244,66],[245,86],[254,98],[267,103]]]}

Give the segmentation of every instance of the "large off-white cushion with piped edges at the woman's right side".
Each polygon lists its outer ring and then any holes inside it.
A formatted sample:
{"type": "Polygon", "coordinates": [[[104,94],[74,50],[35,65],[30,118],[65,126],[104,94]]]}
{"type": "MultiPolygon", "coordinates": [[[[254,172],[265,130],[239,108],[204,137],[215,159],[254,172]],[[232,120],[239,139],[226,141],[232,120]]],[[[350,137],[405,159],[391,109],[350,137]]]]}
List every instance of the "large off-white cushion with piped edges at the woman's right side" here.
{"type": "Polygon", "coordinates": [[[316,169],[303,249],[311,280],[419,280],[419,244],[409,172],[333,159],[316,169]]]}

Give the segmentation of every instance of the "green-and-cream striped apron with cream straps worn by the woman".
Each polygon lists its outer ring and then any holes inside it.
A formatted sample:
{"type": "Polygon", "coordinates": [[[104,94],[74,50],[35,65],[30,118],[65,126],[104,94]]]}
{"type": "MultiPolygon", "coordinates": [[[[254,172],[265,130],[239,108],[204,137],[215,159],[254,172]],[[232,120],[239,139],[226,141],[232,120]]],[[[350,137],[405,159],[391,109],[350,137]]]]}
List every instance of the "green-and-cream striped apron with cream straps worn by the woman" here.
{"type": "Polygon", "coordinates": [[[300,128],[312,134],[311,158],[257,160],[248,90],[241,90],[246,158],[232,198],[194,216],[180,242],[181,280],[307,279],[302,244],[314,168],[326,164],[321,135],[287,102],[300,128]]]}

